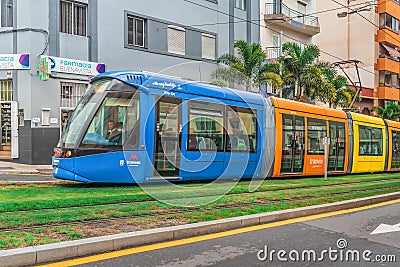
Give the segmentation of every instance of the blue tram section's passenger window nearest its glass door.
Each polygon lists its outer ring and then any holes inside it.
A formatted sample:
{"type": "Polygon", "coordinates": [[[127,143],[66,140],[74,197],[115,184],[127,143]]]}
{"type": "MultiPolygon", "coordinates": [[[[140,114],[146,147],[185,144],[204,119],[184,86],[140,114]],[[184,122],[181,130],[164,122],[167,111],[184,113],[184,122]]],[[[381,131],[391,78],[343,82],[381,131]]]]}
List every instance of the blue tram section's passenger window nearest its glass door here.
{"type": "Polygon", "coordinates": [[[189,102],[188,151],[224,150],[224,106],[189,102]]]}

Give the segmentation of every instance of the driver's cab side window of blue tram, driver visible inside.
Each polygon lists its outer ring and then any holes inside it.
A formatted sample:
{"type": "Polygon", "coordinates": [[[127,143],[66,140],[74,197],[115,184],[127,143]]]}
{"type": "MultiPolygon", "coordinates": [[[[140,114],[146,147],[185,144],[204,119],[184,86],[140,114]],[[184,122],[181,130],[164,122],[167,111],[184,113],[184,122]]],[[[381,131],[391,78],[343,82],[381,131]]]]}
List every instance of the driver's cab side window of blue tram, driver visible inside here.
{"type": "Polygon", "coordinates": [[[135,146],[138,135],[139,93],[110,92],[89,125],[81,146],[121,148],[126,140],[135,146]]]}

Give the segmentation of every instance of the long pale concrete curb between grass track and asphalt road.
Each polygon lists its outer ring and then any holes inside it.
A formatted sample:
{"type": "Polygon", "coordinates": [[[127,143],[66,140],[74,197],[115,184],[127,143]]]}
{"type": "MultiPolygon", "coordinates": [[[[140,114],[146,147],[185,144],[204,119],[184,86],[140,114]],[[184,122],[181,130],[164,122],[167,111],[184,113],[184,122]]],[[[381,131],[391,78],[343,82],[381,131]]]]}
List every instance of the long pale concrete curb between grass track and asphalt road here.
{"type": "Polygon", "coordinates": [[[10,249],[0,251],[0,262],[1,266],[4,267],[35,265],[67,258],[81,257],[89,254],[115,251],[150,243],[217,233],[246,226],[283,221],[287,219],[294,219],[343,209],[358,208],[399,198],[400,192],[397,192],[330,204],[240,216],[216,221],[94,237],[20,249],[10,249]]]}

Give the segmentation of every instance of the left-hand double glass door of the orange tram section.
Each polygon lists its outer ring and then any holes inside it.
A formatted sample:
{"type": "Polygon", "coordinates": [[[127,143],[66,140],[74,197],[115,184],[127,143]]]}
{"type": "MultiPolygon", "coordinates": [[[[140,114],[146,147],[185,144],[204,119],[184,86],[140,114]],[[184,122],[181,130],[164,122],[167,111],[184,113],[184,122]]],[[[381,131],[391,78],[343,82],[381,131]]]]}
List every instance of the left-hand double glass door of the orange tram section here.
{"type": "Polygon", "coordinates": [[[304,166],[304,117],[283,114],[281,173],[302,173],[304,166]]]}

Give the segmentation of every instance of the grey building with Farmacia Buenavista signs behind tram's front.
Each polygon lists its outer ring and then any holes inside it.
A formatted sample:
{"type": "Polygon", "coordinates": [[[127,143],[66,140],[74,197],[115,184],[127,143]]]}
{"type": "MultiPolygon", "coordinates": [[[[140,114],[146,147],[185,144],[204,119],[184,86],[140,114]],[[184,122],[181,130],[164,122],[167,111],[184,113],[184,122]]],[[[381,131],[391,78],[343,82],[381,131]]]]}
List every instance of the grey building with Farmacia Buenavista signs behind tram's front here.
{"type": "Polygon", "coordinates": [[[259,42],[254,0],[1,0],[0,158],[49,164],[91,77],[117,69],[207,80],[235,40],[259,42]]]}

